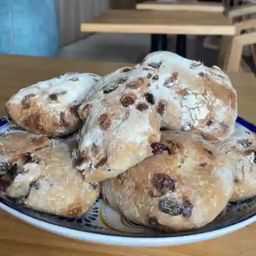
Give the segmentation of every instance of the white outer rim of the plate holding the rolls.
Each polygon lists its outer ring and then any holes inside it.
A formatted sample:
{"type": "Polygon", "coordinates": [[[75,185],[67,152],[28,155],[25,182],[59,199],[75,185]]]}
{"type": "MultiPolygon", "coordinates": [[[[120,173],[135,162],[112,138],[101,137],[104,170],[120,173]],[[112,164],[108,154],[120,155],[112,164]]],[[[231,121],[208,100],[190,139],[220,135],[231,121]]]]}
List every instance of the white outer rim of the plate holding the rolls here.
{"type": "MultiPolygon", "coordinates": [[[[256,133],[256,126],[241,117],[237,117],[236,122],[245,126],[250,131],[256,133]]],[[[9,123],[8,118],[3,117],[0,119],[0,127],[9,123]],[[1,124],[4,122],[4,124],[1,124]]],[[[99,244],[108,244],[108,245],[122,245],[122,246],[135,246],[135,247],[160,247],[160,246],[172,246],[172,245],[182,245],[195,243],[200,241],[209,240],[212,238],[217,238],[223,236],[224,234],[231,233],[233,231],[239,230],[253,222],[256,221],[256,212],[250,217],[229,226],[219,228],[212,231],[206,231],[196,234],[186,234],[182,236],[166,236],[166,237],[128,237],[128,236],[119,236],[116,234],[102,234],[97,232],[89,232],[86,230],[76,230],[69,227],[62,227],[56,224],[45,222],[37,218],[31,217],[24,214],[18,210],[11,208],[10,206],[0,202],[0,208],[8,214],[16,217],[19,220],[25,221],[26,223],[35,226],[37,228],[43,229],[48,232],[58,234],[62,237],[67,237],[71,239],[76,239],[80,241],[88,241],[99,244]]]]}

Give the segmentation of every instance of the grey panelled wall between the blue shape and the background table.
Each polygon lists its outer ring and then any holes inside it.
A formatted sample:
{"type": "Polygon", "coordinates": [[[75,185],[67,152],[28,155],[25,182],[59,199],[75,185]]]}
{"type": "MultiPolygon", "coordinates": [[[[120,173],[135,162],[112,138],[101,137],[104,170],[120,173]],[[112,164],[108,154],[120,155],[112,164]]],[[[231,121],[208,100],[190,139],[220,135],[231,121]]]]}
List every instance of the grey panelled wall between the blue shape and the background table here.
{"type": "Polygon", "coordinates": [[[87,36],[80,32],[80,23],[109,9],[109,0],[55,0],[55,3],[61,47],[87,36]]]}

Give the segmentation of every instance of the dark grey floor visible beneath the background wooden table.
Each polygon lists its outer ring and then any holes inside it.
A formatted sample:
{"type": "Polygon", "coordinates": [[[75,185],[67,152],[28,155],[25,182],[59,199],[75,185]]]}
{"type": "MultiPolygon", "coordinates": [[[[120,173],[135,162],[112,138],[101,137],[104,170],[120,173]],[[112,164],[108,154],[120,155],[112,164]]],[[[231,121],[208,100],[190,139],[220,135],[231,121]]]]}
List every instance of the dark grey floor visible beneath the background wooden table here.
{"type": "MultiPolygon", "coordinates": [[[[207,66],[216,65],[218,51],[204,48],[203,39],[203,36],[187,37],[187,58],[201,60],[207,66]]],[[[169,36],[168,42],[168,50],[175,52],[176,37],[169,36]]],[[[136,63],[149,52],[148,34],[97,33],[62,48],[59,56],[136,63]]],[[[246,62],[253,68],[250,58],[246,62]]]]}

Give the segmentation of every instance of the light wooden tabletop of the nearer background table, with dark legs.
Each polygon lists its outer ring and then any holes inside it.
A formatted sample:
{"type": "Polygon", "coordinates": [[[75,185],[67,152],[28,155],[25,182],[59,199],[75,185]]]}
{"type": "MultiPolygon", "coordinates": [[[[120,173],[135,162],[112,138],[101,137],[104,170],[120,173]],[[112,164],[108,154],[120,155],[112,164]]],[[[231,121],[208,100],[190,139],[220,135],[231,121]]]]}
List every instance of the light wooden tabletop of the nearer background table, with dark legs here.
{"type": "Polygon", "coordinates": [[[234,35],[232,21],[218,12],[110,10],[81,24],[83,32],[234,35]]]}

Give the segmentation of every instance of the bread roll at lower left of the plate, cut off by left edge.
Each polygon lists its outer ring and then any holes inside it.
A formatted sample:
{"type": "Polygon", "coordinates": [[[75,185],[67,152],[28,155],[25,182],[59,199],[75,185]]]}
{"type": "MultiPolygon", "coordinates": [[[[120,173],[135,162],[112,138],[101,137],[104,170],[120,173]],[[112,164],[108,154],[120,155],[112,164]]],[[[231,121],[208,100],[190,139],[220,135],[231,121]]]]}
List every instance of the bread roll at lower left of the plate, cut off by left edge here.
{"type": "Polygon", "coordinates": [[[60,140],[15,132],[0,137],[2,196],[33,209],[78,217],[99,195],[73,167],[68,146],[60,140]]]}

